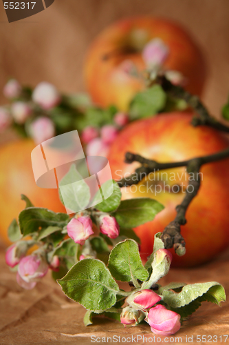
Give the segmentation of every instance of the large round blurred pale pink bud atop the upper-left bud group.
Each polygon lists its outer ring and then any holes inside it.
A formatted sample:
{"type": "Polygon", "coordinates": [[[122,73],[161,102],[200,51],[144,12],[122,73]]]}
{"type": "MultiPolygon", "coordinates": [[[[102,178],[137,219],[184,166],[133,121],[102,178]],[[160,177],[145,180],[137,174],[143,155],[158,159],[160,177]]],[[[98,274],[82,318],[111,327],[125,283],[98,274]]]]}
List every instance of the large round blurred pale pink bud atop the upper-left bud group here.
{"type": "Polygon", "coordinates": [[[41,108],[48,110],[57,106],[61,101],[61,95],[55,86],[46,81],[39,83],[32,94],[32,99],[38,103],[41,108]]]}

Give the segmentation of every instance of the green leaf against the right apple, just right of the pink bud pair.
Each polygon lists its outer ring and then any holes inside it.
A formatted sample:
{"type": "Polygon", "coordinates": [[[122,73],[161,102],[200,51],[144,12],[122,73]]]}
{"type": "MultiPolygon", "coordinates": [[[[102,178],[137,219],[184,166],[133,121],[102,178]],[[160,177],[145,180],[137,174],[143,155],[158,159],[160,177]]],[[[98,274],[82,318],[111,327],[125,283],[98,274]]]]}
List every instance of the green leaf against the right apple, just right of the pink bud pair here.
{"type": "Polygon", "coordinates": [[[135,228],[154,219],[155,215],[163,210],[160,202],[150,198],[136,198],[121,201],[120,206],[113,213],[118,224],[124,228],[135,228]]]}

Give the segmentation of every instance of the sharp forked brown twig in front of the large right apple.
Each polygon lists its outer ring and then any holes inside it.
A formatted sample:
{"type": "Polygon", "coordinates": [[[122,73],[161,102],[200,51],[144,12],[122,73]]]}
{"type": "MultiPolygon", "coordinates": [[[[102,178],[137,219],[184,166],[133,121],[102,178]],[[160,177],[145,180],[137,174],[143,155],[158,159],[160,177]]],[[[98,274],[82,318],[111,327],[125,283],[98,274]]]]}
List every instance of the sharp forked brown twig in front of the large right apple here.
{"type": "Polygon", "coordinates": [[[142,164],[140,168],[135,170],[135,173],[128,176],[128,178],[122,178],[118,181],[118,186],[120,188],[124,186],[131,186],[133,184],[138,184],[142,180],[142,177],[149,175],[151,172],[155,172],[156,170],[165,170],[169,168],[178,168],[182,166],[186,166],[186,170],[188,174],[192,173],[192,179],[189,179],[188,186],[192,186],[190,188],[192,192],[188,192],[188,188],[186,188],[186,195],[181,204],[177,205],[176,211],[177,215],[173,221],[171,221],[162,233],[162,241],[164,242],[165,248],[174,248],[177,255],[184,255],[185,254],[185,241],[181,235],[180,226],[186,224],[186,210],[190,205],[190,202],[193,198],[197,195],[201,179],[199,177],[199,170],[202,165],[208,164],[213,161],[219,161],[221,159],[225,159],[229,157],[229,148],[226,150],[222,150],[220,152],[214,153],[212,155],[207,155],[203,157],[196,157],[193,159],[188,159],[186,161],[176,161],[171,163],[159,163],[157,161],[146,159],[140,155],[135,155],[131,152],[127,152],[125,155],[125,162],[127,164],[131,164],[134,161],[142,164]]]}

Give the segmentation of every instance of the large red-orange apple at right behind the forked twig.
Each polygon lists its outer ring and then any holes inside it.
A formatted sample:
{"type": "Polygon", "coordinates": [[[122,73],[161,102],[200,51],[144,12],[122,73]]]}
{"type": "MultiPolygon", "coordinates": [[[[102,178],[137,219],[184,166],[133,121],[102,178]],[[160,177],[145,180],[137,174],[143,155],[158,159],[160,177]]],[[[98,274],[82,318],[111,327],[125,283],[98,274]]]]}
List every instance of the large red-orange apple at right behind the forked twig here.
{"type": "MultiPolygon", "coordinates": [[[[108,159],[113,178],[118,180],[140,166],[138,163],[123,162],[124,154],[128,151],[160,162],[172,162],[210,155],[229,146],[228,139],[217,130],[206,126],[191,126],[192,116],[190,113],[173,112],[129,124],[120,132],[109,151],[108,159]]],[[[187,186],[188,175],[182,177],[185,168],[173,168],[163,172],[169,173],[168,178],[171,178],[171,172],[176,173],[176,181],[169,182],[171,186],[180,185],[182,182],[187,186]]],[[[201,187],[188,207],[187,223],[181,227],[186,241],[186,254],[178,257],[171,249],[173,266],[204,264],[229,244],[229,159],[206,164],[201,167],[201,172],[201,187]]],[[[175,219],[175,206],[181,203],[184,193],[165,191],[155,195],[155,191],[152,193],[148,190],[147,193],[144,186],[146,181],[133,186],[132,193],[129,188],[122,188],[122,199],[151,197],[165,206],[153,221],[135,228],[135,233],[142,242],[142,259],[145,260],[152,252],[155,233],[163,231],[170,221],[175,219]]]]}

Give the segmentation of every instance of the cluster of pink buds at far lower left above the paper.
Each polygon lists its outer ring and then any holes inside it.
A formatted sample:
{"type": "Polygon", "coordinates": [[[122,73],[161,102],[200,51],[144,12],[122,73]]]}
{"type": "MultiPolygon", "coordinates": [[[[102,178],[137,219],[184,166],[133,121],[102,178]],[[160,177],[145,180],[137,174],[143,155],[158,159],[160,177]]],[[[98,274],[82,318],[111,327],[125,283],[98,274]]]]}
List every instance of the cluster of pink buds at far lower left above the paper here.
{"type": "Polygon", "coordinates": [[[48,269],[58,270],[60,261],[57,255],[52,257],[52,261],[47,262],[45,251],[36,250],[31,255],[27,255],[30,248],[30,241],[19,241],[12,244],[6,251],[6,264],[11,268],[17,266],[17,283],[27,290],[36,286],[48,269]]]}

